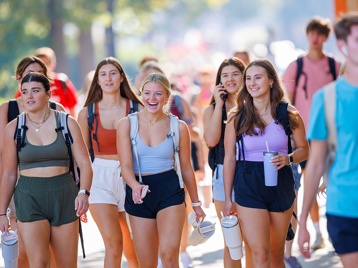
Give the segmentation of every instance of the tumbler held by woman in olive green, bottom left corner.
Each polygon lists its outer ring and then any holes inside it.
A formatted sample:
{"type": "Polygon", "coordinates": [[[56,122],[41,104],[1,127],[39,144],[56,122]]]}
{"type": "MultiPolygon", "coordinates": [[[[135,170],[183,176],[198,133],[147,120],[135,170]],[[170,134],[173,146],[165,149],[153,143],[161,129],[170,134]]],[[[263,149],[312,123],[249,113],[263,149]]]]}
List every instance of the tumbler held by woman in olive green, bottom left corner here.
{"type": "Polygon", "coordinates": [[[17,235],[14,231],[9,230],[1,234],[1,251],[4,259],[5,268],[17,268],[18,242],[17,235]]]}

